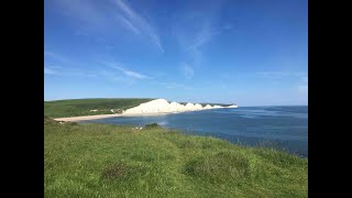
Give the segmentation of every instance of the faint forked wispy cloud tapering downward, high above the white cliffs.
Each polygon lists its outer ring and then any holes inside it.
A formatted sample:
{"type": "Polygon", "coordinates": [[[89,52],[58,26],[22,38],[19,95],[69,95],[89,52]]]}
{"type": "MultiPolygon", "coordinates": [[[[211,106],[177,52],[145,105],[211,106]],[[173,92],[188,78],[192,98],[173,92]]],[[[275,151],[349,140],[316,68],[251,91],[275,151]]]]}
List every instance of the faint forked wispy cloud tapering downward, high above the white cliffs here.
{"type": "Polygon", "coordinates": [[[206,46],[218,34],[232,29],[230,23],[216,25],[216,19],[219,15],[222,2],[217,1],[205,4],[207,6],[199,4],[199,9],[204,12],[190,10],[183,15],[175,15],[173,22],[173,35],[184,52],[184,63],[187,64],[183,68],[183,73],[186,74],[185,76],[188,79],[193,77],[197,68],[204,65],[206,46]]]}

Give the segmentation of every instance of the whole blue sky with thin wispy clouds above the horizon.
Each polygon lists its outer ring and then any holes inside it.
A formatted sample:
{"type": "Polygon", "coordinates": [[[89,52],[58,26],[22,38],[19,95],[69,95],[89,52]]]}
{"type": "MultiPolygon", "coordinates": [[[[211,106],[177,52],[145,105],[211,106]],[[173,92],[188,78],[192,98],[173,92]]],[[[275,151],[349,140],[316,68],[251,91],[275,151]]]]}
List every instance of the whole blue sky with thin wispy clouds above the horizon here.
{"type": "Polygon", "coordinates": [[[45,0],[44,100],[308,103],[307,0],[45,0]]]}

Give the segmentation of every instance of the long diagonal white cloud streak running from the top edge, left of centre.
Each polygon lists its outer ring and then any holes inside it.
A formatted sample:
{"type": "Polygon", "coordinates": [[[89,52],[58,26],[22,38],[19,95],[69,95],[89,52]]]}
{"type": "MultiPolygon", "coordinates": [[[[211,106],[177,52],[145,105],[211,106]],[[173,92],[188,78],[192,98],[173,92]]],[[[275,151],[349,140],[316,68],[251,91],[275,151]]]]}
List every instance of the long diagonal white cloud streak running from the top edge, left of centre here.
{"type": "Polygon", "coordinates": [[[119,19],[134,33],[141,33],[150,37],[157,48],[164,53],[158,34],[155,30],[146,22],[144,18],[138,14],[131,7],[129,7],[122,0],[113,0],[114,4],[122,11],[123,16],[119,19]]]}

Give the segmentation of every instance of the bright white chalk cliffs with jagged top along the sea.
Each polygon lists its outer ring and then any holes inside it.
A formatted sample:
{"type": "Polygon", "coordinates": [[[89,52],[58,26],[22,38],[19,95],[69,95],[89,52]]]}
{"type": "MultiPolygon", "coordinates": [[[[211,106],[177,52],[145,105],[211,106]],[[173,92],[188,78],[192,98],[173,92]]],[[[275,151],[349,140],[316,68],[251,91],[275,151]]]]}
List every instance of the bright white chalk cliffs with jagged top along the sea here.
{"type": "Polygon", "coordinates": [[[128,109],[123,112],[123,114],[145,114],[145,113],[170,113],[170,112],[185,112],[185,111],[199,111],[199,110],[207,110],[207,109],[218,109],[218,108],[238,108],[238,106],[229,106],[229,107],[221,107],[221,106],[210,106],[207,105],[202,107],[199,103],[190,103],[188,102],[186,106],[177,103],[177,102],[168,102],[165,99],[156,99],[145,103],[141,103],[138,107],[128,109]]]}

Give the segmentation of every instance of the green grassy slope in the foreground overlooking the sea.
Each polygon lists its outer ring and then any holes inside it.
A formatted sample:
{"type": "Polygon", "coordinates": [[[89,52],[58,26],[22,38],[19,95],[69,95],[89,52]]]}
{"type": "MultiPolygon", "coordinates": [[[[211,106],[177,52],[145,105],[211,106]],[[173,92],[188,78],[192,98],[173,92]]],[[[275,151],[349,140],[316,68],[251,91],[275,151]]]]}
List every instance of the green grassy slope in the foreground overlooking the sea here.
{"type": "Polygon", "coordinates": [[[166,129],[44,119],[45,197],[307,197],[308,160],[166,129]]]}

